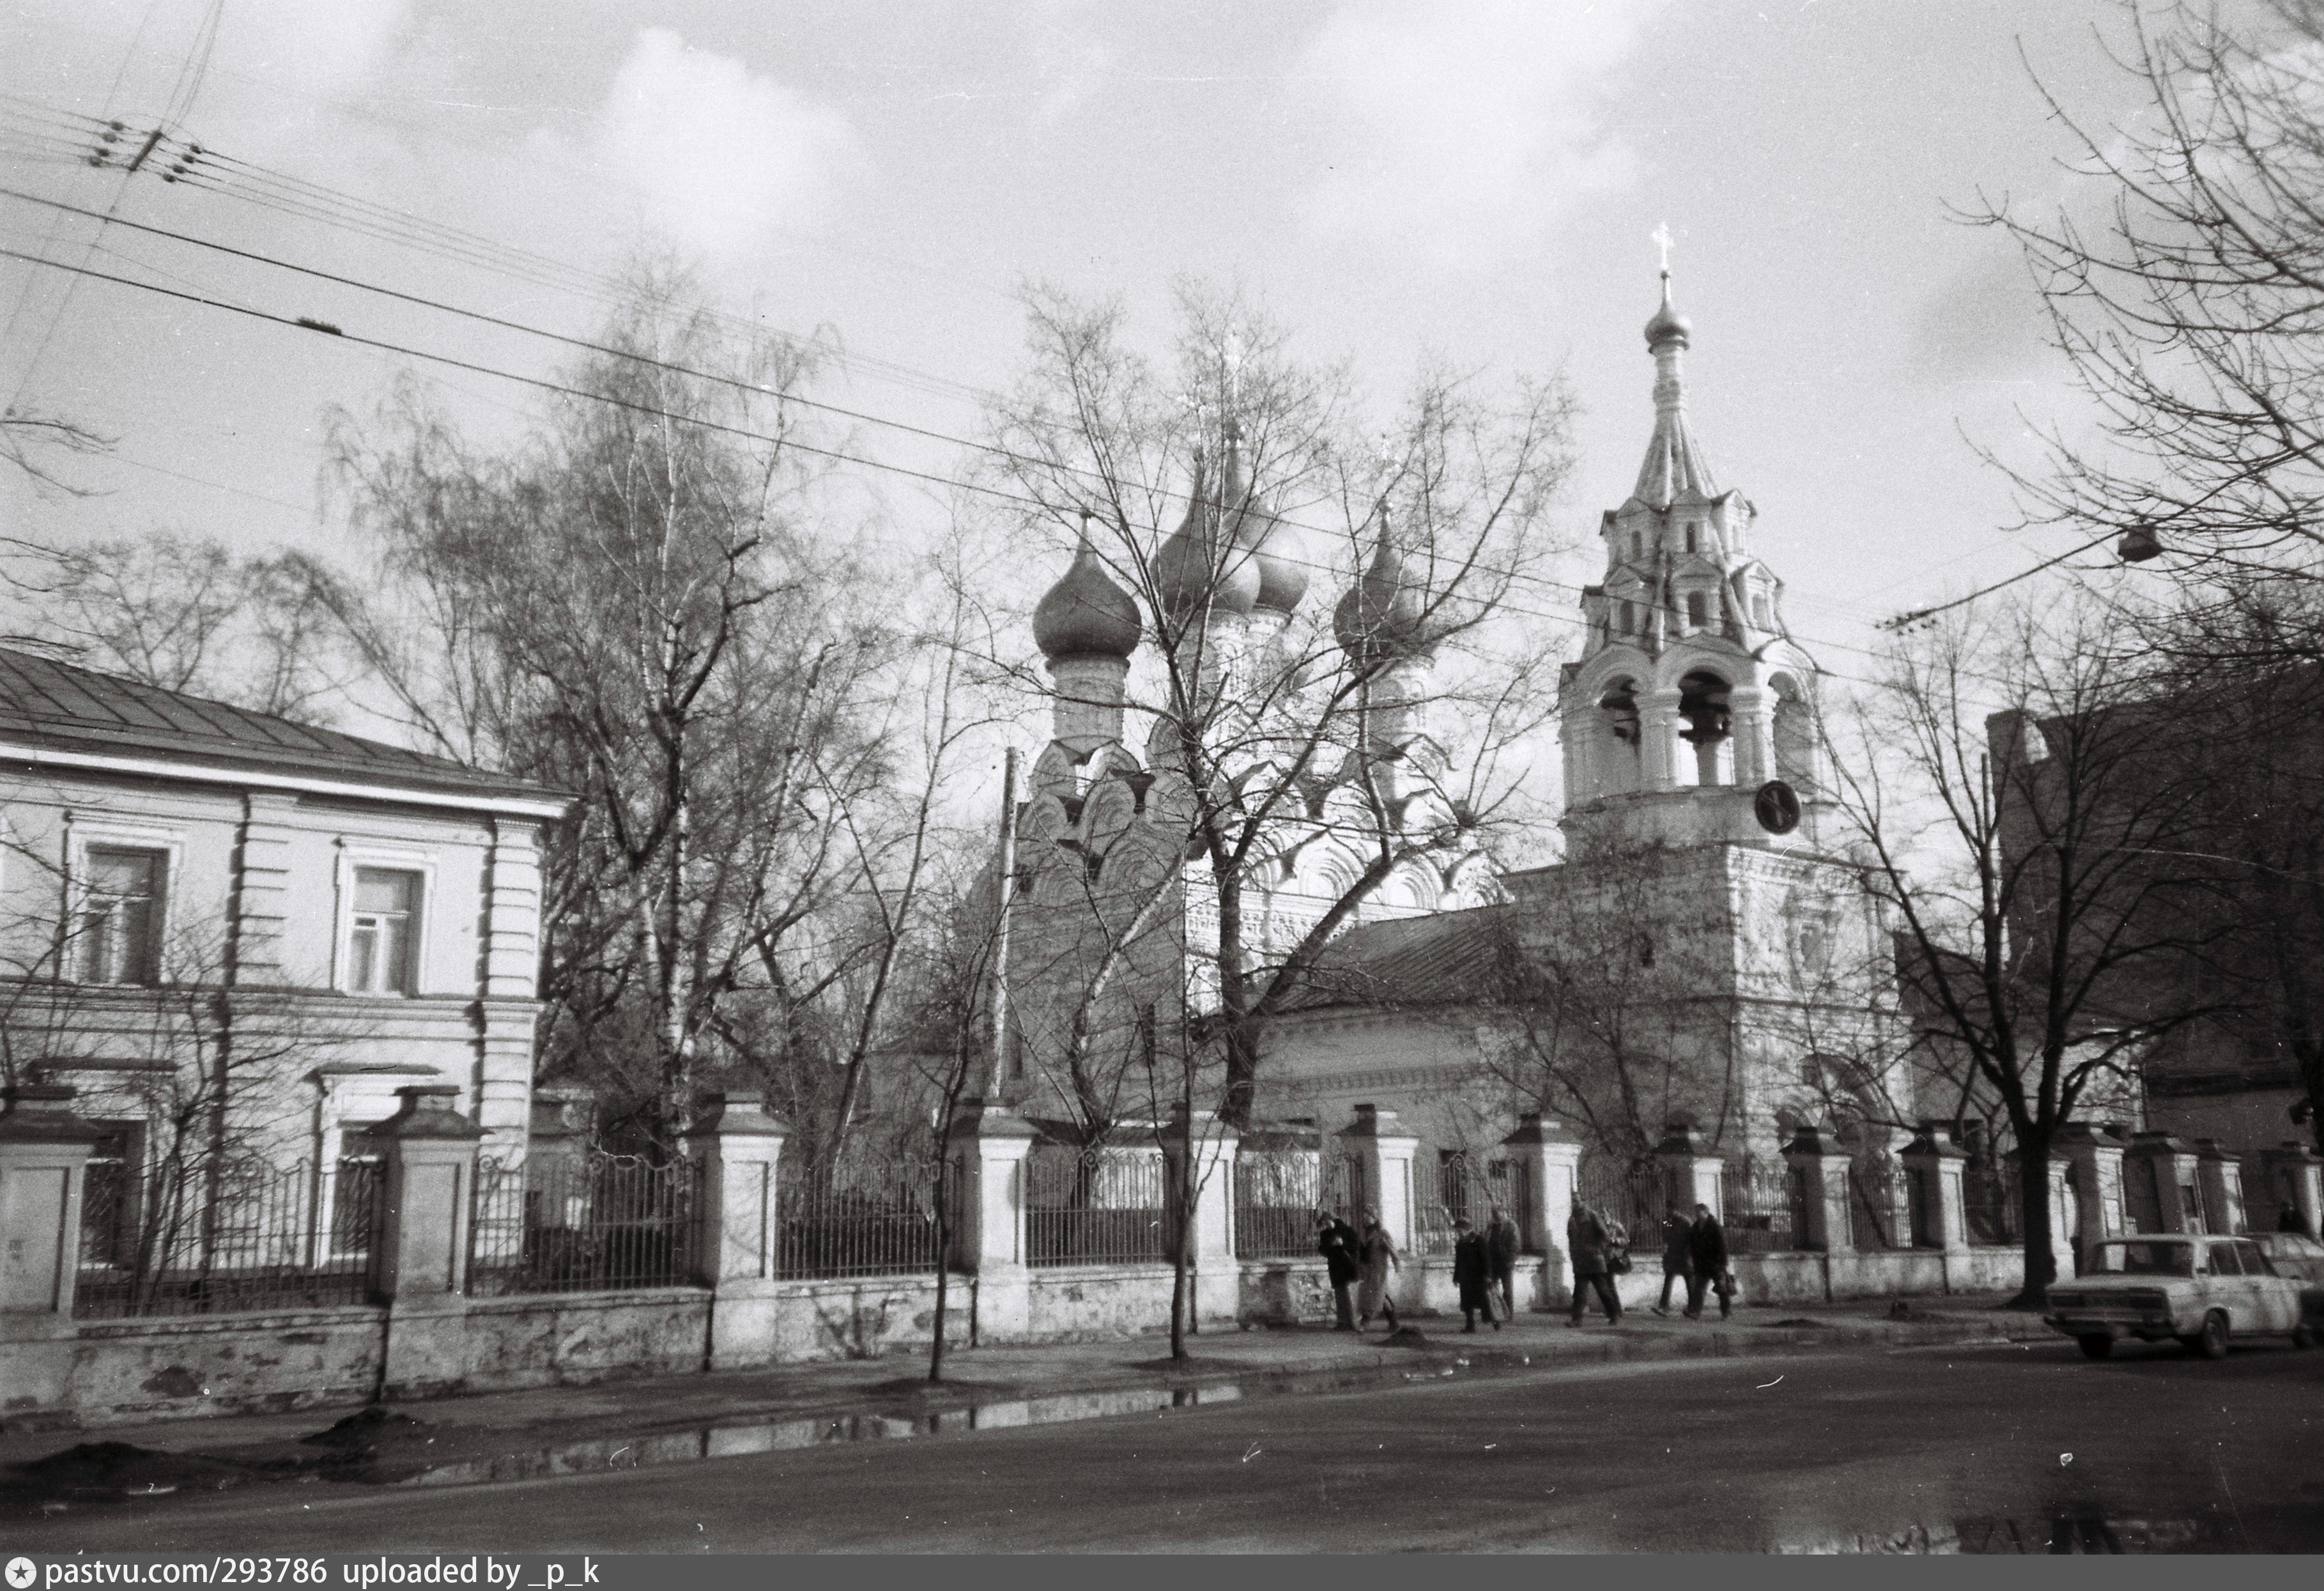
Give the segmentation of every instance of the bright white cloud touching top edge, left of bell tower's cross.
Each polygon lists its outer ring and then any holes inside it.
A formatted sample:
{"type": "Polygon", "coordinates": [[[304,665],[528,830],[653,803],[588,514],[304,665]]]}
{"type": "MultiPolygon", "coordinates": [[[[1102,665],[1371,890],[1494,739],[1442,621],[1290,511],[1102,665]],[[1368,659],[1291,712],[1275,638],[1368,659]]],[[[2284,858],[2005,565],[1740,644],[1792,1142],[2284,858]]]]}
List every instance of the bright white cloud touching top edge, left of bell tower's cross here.
{"type": "Polygon", "coordinates": [[[1355,0],[1299,60],[1322,98],[1327,172],[1297,200],[1318,237],[1490,265],[1576,197],[1624,186],[1606,128],[1615,74],[1662,0],[1355,0]]]}

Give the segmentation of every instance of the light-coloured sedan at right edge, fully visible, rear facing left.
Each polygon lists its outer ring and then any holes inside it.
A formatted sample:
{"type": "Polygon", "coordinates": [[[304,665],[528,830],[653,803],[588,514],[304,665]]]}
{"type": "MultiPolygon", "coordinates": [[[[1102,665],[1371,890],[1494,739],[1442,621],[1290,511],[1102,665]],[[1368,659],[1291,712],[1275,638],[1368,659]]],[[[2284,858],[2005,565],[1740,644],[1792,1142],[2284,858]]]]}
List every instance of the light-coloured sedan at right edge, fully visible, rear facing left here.
{"type": "Polygon", "coordinates": [[[2099,1243],[2082,1275],[2054,1282],[2043,1319],[2106,1359],[2122,1338],[2178,1338],[2187,1352],[2224,1359],[2231,1333],[2315,1342],[2301,1319],[2301,1282],[2282,1277],[2250,1238],[2150,1233],[2099,1243]]]}

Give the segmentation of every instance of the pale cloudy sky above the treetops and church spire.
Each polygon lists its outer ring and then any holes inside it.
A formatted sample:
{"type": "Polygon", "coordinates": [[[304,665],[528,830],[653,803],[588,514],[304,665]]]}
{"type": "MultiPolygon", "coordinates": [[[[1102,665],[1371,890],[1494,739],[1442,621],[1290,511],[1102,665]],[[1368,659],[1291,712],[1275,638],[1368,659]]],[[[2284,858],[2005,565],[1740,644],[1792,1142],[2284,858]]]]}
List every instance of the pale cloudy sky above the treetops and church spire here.
{"type": "MultiPolygon", "coordinates": [[[[325,225],[288,181],[588,269],[658,235],[769,323],[834,327],[853,358],[832,397],[946,432],[974,430],[976,393],[1018,365],[1018,283],[1120,293],[1160,334],[1174,276],[1239,276],[1306,351],[1387,388],[1429,351],[1564,367],[1587,406],[1578,534],[1645,444],[1638,327],[1669,223],[1713,467],[1759,504],[1794,629],[1859,646],[1871,618],[2064,546],[2001,534],[2010,497],[1971,444],[2010,453],[2020,413],[2078,411],[2015,255],[1948,204],[2075,200],[2057,170],[2071,142],[2024,63],[2089,121],[2124,114],[2094,33],[2113,16],[2103,0],[14,0],[0,186],[574,332],[595,304],[567,286],[497,253],[414,251],[402,221],[325,225]],[[74,163],[37,142],[56,109],[121,118],[132,142],[174,111],[244,163],[228,183],[244,197],[74,163]]],[[[558,362],[19,200],[0,232],[479,362],[558,362]]],[[[56,537],[170,523],[328,546],[321,413],[367,406],[402,367],[107,283],[67,295],[19,262],[0,262],[0,388],[119,437],[81,467],[98,497],[0,483],[12,525],[56,537]]],[[[530,402],[432,379],[481,427],[530,402]]],[[[867,448],[946,467],[876,432],[867,448]]],[[[930,513],[909,488],[888,504],[930,513]]]]}

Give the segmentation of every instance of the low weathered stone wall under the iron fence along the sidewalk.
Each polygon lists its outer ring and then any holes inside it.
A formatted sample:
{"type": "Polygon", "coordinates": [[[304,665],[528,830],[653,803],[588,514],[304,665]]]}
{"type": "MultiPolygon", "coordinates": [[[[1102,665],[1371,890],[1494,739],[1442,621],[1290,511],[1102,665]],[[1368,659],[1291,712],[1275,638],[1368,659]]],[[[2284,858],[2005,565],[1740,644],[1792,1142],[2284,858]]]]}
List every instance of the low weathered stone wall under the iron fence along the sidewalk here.
{"type": "MultiPolygon", "coordinates": [[[[1834,1298],[2006,1291],[2017,1250],[1901,1250],[1875,1254],[1738,1254],[1741,1303],[1813,1305],[1834,1298]]],[[[1171,1268],[1041,1266],[1025,1275],[1025,1324],[983,1322],[983,1340],[1078,1342],[1169,1329],[1171,1268]]],[[[1322,1259],[1236,1266],[1232,1322],[1322,1324],[1332,1289],[1322,1259]]],[[[1627,1308],[1655,1303],[1662,1266],[1620,1277],[1627,1308]]],[[[1204,1289],[1225,1298],[1218,1287],[1204,1289]]],[[[1676,1294],[1676,1289],[1673,1289],[1676,1294]]],[[[1452,1261],[1406,1259],[1397,1308],[1457,1315],[1452,1261]]],[[[1536,1254],[1518,1261],[1518,1305],[1564,1310],[1569,1277],[1536,1254]]],[[[1673,1296],[1673,1305],[1678,1298],[1673,1296]]],[[[128,1322],[0,1317],[0,1419],[77,1417],[86,1424],[349,1405],[386,1380],[390,1396],[509,1391],[630,1375],[683,1375],[711,1359],[711,1312],[725,1310],[720,1363],[878,1359],[925,1349],[934,1331],[932,1275],[730,1284],[641,1291],[439,1298],[381,1308],[181,1315],[128,1322]],[[741,1326],[737,1331],[737,1326],[741,1326]],[[388,1375],[381,1377],[381,1354],[388,1375]]],[[[969,1340],[971,1277],[953,1277],[948,1336],[969,1340]]],[[[988,1312],[990,1315],[990,1312],[988,1312]]],[[[1225,1305],[1204,1326],[1227,1324],[1225,1305]]]]}

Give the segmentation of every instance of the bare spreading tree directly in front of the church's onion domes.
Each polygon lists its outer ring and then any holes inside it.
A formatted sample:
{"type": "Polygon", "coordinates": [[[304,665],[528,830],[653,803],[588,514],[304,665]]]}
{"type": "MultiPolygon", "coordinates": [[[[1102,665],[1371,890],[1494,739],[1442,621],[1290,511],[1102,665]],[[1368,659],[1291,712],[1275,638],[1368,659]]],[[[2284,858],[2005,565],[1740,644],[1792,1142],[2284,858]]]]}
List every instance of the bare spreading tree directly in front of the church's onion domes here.
{"type": "MultiPolygon", "coordinates": [[[[1011,530],[1078,537],[1146,639],[1127,685],[1055,690],[1111,713],[1116,741],[1122,713],[1148,734],[1143,759],[1043,762],[1027,843],[1102,880],[1102,955],[1134,964],[1081,1027],[1129,1036],[1143,1006],[1188,1020],[1243,1124],[1267,1024],[1343,927],[1490,894],[1511,753],[1555,701],[1555,662],[1511,609],[1552,550],[1569,399],[1429,369],[1367,439],[1348,372],[1292,360],[1281,327],[1199,286],[1167,372],[1111,304],[1037,290],[1030,330],[1032,369],[992,416],[1006,490],[1034,504],[1011,530]]],[[[1067,985],[1053,1006],[1085,1006],[1097,978],[1067,985]]]]}

